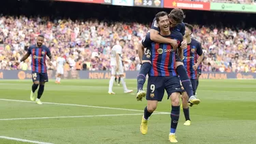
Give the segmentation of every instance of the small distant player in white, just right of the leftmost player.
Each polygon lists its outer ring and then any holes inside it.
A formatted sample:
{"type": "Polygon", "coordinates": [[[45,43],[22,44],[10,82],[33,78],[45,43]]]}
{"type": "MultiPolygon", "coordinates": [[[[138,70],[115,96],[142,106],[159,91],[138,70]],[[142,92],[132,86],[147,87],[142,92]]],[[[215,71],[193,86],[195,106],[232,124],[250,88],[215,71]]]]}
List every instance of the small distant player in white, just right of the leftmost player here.
{"type": "Polygon", "coordinates": [[[55,83],[61,83],[61,76],[64,74],[65,63],[66,59],[64,58],[64,54],[61,54],[60,57],[57,57],[57,78],[55,83]]]}

